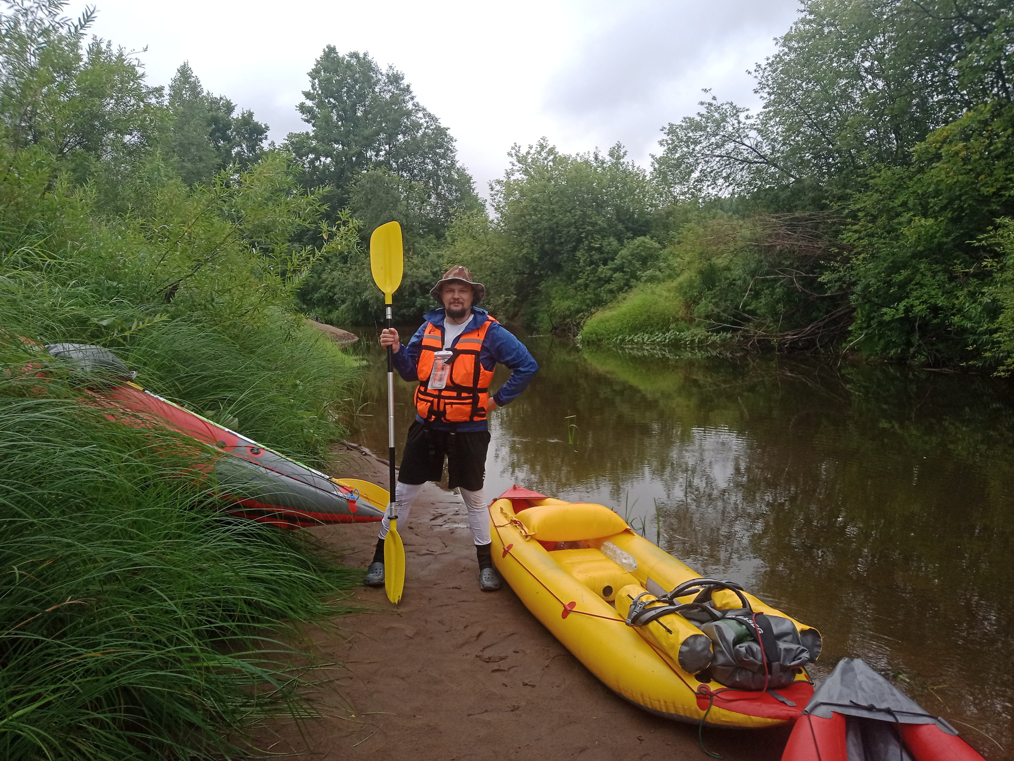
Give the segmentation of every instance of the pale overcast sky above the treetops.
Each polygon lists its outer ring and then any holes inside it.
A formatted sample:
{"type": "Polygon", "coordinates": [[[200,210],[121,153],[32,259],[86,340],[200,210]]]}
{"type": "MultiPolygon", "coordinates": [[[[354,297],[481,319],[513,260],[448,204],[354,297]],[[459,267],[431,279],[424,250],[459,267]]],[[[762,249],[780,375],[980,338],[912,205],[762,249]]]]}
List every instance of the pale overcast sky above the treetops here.
{"type": "MultiPolygon", "coordinates": [[[[746,70],[771,55],[797,0],[94,0],[93,33],[138,51],[149,82],[190,61],[204,86],[251,109],[281,142],[325,45],[405,72],[457,139],[486,195],[513,143],[622,142],[647,164],[659,129],[702,88],[755,103],[746,70]],[[143,49],[147,48],[144,52],[143,49]]],[[[86,3],[71,3],[75,15],[86,3]]]]}

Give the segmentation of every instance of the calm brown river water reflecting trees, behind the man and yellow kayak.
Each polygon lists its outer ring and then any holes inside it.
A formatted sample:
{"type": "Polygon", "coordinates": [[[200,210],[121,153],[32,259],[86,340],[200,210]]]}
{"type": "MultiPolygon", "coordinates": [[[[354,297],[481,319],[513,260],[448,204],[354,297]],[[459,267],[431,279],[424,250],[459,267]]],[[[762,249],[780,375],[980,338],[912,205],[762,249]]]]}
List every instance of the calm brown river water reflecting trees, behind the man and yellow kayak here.
{"type": "MultiPolygon", "coordinates": [[[[359,332],[368,388],[352,438],[384,456],[383,355],[359,332]]],[[[524,341],[540,370],[492,416],[488,497],[518,484],[606,504],[816,626],[815,676],[862,658],[987,758],[1014,758],[1010,382],[524,341]]],[[[395,387],[401,447],[414,387],[395,387]]]]}

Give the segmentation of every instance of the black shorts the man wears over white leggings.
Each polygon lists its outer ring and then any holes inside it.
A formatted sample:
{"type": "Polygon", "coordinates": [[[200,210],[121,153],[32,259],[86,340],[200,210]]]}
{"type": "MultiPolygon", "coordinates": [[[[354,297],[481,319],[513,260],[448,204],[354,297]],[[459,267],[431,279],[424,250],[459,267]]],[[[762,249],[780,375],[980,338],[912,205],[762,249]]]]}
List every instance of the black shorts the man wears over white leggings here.
{"type": "Polygon", "coordinates": [[[446,457],[448,486],[479,491],[486,478],[486,451],[489,447],[488,430],[452,433],[427,428],[417,420],[409,428],[397,480],[403,484],[442,481],[446,457]]]}

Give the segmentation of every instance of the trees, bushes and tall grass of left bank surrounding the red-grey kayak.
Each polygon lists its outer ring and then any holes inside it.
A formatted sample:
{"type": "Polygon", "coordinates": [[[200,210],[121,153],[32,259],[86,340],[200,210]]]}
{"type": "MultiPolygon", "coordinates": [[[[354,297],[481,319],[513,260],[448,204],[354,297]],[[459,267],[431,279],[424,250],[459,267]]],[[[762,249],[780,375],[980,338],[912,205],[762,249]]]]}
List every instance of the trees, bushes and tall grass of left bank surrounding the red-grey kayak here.
{"type": "Polygon", "coordinates": [[[113,349],[157,393],[322,463],[355,360],[306,327],[309,269],[354,245],[183,67],[168,92],[90,15],[0,17],[0,756],[222,758],[299,714],[277,638],[358,574],[227,518],[185,442],[107,421],[39,344],[113,349]],[[301,243],[309,233],[313,244],[301,243]]]}

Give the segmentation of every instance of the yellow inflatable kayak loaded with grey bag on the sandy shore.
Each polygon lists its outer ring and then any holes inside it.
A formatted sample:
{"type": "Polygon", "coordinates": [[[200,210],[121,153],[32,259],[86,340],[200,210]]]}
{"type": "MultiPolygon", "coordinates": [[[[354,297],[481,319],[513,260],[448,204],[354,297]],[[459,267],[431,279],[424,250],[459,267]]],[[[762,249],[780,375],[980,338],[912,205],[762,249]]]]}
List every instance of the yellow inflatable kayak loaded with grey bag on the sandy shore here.
{"type": "Polygon", "coordinates": [[[599,504],[514,487],[490,505],[493,559],[525,607],[621,697],[716,727],[793,721],[820,634],[703,578],[599,504]]]}

